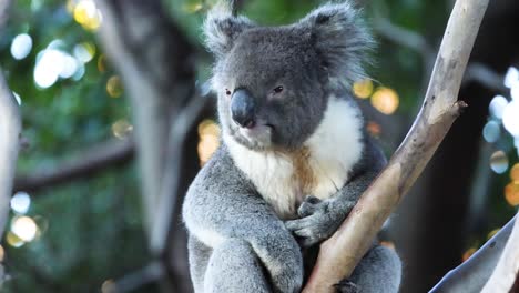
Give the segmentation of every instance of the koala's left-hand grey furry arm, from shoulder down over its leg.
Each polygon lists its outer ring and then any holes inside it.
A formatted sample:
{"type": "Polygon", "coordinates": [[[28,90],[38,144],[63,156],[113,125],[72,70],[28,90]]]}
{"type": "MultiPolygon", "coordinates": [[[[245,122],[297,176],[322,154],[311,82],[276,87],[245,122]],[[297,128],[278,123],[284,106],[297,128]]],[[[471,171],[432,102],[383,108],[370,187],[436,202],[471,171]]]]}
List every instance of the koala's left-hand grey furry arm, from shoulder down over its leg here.
{"type": "Polygon", "coordinates": [[[225,150],[213,155],[190,186],[183,219],[190,234],[208,247],[248,243],[277,291],[301,287],[303,260],[297,242],[225,150]]]}

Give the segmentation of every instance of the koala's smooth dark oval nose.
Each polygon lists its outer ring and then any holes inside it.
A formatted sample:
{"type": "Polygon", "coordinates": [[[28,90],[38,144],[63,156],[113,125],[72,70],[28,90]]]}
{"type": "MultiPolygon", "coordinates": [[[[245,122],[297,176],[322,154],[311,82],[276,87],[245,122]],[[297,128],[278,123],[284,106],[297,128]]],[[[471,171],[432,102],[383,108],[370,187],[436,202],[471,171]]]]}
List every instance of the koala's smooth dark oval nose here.
{"type": "Polygon", "coordinates": [[[256,104],[254,98],[245,89],[238,89],[231,98],[231,115],[242,128],[254,128],[256,104]]]}

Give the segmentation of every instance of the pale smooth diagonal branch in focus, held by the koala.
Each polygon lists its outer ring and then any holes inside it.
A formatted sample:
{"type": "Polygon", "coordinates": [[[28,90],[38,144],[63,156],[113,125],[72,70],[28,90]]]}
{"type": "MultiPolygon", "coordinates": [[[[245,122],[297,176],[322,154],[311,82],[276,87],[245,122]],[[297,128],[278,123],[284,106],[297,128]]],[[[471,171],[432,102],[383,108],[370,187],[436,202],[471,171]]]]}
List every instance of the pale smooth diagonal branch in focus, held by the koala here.
{"type": "Polygon", "coordinates": [[[303,292],[333,292],[334,284],[350,275],[466,107],[456,100],[487,6],[488,0],[456,2],[424,105],[413,128],[338,231],[320,245],[317,263],[303,292]]]}

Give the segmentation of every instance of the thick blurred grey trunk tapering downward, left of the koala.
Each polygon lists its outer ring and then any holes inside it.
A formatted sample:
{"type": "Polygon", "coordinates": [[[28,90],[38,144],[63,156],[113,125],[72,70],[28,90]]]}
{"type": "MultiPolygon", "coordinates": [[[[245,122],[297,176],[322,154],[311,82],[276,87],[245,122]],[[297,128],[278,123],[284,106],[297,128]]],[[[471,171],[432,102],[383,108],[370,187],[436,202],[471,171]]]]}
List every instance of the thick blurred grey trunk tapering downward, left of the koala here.
{"type": "Polygon", "coordinates": [[[101,42],[132,104],[147,231],[159,204],[171,118],[194,92],[192,47],[159,0],[96,0],[101,42]]]}

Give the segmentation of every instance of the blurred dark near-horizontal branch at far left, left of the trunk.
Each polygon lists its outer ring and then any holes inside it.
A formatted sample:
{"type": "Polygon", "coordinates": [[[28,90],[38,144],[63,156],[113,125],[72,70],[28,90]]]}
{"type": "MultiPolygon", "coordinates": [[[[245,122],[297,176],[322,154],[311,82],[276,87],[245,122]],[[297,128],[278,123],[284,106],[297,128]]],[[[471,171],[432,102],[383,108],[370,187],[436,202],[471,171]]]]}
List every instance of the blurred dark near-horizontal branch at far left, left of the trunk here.
{"type": "Polygon", "coordinates": [[[90,146],[75,159],[61,165],[38,170],[31,175],[20,175],[14,180],[16,191],[33,192],[70,182],[79,178],[94,175],[110,165],[126,163],[133,159],[135,145],[132,140],[113,140],[90,146]]]}

